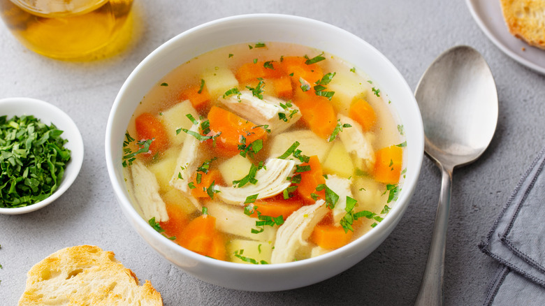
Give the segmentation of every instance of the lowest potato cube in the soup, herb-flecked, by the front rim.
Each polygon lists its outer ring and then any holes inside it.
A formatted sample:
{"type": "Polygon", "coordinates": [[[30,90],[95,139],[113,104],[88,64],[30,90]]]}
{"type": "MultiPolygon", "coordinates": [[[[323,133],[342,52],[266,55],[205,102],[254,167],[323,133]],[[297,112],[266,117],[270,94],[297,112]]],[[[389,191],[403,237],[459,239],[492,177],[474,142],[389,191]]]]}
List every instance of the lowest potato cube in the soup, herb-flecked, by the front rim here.
{"type": "Polygon", "coordinates": [[[233,263],[250,263],[243,261],[238,256],[235,256],[235,254],[248,259],[254,259],[257,263],[261,261],[270,263],[270,255],[273,254],[273,247],[268,242],[233,239],[227,245],[227,254],[229,254],[233,263]]]}

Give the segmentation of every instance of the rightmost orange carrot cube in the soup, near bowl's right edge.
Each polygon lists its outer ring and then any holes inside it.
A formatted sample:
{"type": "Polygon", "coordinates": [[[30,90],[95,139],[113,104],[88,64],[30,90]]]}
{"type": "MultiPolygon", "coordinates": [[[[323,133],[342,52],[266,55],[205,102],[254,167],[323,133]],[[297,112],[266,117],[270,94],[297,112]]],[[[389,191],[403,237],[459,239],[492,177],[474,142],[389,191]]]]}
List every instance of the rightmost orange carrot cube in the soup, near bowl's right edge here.
{"type": "Polygon", "coordinates": [[[403,150],[392,145],[375,152],[375,180],[385,184],[399,182],[403,150]]]}

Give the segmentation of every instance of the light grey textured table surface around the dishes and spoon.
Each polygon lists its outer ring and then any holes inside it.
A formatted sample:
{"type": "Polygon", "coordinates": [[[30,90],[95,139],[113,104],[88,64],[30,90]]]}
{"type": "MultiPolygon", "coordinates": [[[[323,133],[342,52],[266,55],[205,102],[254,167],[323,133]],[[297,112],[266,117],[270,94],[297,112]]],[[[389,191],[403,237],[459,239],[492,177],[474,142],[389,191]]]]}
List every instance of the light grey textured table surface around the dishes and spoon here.
{"type": "Polygon", "coordinates": [[[27,96],[57,105],[78,124],[85,144],[80,175],[66,194],[36,212],[0,215],[0,305],[16,305],[34,263],[57,249],[82,244],[115,252],[140,279],[150,279],[165,305],[414,303],[439,198],[439,170],[428,159],[407,213],[375,252],[340,275],[291,291],[233,291],[201,282],[161,258],[123,216],[108,180],[104,135],[125,78],[176,34],[245,13],[300,15],[351,31],[383,52],[412,89],[447,48],[471,45],[484,55],[497,83],[500,115],[491,147],[477,162],[454,172],[444,279],[446,305],[483,303],[497,265],[477,244],[545,144],[545,78],[496,48],[464,1],[136,0],[135,6],[139,21],[129,49],[87,63],[26,50],[0,23],[0,98],[27,96]]]}

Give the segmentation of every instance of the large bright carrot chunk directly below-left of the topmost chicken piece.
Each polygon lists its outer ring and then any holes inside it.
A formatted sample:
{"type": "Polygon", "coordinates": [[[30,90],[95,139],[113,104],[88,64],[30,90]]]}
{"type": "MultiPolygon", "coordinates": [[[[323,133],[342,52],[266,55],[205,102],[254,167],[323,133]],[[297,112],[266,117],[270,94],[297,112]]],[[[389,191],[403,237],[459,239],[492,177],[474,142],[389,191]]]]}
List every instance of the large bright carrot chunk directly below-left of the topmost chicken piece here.
{"type": "Polygon", "coordinates": [[[217,106],[210,108],[208,120],[213,133],[221,132],[215,141],[215,151],[222,156],[231,157],[238,154],[238,145],[242,145],[242,138],[245,139],[245,145],[267,138],[262,127],[257,127],[256,124],[217,106]]]}

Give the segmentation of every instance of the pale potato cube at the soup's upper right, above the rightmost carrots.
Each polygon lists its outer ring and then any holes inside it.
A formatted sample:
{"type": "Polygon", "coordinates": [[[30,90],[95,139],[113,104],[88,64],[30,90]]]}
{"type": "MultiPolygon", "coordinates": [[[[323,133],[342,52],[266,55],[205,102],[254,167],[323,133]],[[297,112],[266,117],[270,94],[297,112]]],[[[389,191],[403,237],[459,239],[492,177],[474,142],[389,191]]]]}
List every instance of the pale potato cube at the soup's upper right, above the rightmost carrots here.
{"type": "Polygon", "coordinates": [[[358,78],[360,77],[356,73],[337,71],[327,85],[329,92],[335,92],[331,103],[337,112],[347,114],[352,101],[356,97],[365,96],[366,86],[358,78]]]}

